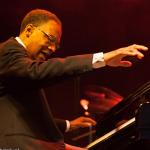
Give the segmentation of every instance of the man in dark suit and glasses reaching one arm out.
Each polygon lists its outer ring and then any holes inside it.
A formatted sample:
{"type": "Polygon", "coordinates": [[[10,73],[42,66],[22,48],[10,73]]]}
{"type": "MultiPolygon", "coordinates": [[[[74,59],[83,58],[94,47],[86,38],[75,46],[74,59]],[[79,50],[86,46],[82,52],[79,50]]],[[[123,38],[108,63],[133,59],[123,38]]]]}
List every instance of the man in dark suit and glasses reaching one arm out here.
{"type": "MultiPolygon", "coordinates": [[[[147,47],[131,45],[108,53],[48,59],[61,39],[61,22],[52,13],[36,9],[22,21],[20,35],[0,46],[0,147],[20,150],[64,150],[42,87],[58,78],[105,65],[130,67],[125,56],[144,55],[147,47]]],[[[74,147],[71,147],[73,149],[74,147]]],[[[67,149],[67,146],[66,146],[67,149]]]]}

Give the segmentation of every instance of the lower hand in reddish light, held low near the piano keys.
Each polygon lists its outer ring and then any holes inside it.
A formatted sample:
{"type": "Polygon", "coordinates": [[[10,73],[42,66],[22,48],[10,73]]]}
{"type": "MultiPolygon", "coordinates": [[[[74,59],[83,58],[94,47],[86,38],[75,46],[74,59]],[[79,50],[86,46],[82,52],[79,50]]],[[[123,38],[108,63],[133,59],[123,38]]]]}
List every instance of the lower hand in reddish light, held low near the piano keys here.
{"type": "Polygon", "coordinates": [[[77,129],[80,127],[89,127],[89,126],[95,126],[96,122],[95,120],[89,118],[89,117],[79,117],[77,119],[74,119],[70,121],[70,130],[77,129]]]}

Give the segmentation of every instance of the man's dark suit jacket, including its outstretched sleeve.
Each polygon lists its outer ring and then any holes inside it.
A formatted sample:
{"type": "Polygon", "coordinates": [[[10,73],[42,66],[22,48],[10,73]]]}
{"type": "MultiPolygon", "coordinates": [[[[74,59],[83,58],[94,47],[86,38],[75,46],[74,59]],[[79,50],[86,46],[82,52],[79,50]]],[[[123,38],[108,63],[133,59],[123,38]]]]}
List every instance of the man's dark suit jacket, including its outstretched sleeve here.
{"type": "MultiPolygon", "coordinates": [[[[0,45],[0,139],[23,135],[63,139],[40,89],[60,77],[92,70],[92,54],[32,60],[14,38],[0,45]]],[[[1,140],[0,140],[1,142],[1,140]]],[[[1,145],[1,143],[0,143],[1,145]]]]}

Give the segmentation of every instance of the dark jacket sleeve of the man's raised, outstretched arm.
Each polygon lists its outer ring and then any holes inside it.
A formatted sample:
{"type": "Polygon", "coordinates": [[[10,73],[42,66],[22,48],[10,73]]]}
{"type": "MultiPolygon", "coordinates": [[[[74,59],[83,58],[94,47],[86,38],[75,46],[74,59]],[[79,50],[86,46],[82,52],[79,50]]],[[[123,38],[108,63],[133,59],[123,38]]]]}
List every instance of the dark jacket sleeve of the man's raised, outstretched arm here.
{"type": "Polygon", "coordinates": [[[5,77],[25,78],[29,81],[40,82],[92,70],[92,54],[35,61],[29,57],[21,45],[5,45],[1,49],[0,75],[5,77]]]}

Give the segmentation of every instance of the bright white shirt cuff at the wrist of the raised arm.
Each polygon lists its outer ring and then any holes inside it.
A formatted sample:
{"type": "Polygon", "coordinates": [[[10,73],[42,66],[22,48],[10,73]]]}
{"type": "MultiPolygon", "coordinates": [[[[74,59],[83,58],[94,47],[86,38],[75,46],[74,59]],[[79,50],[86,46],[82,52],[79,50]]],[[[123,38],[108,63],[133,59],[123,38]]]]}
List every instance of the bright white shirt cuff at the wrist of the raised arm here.
{"type": "Polygon", "coordinates": [[[106,66],[103,52],[93,54],[92,65],[93,68],[101,68],[106,66]]]}

